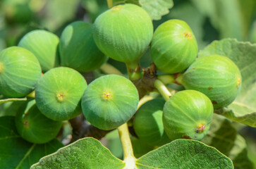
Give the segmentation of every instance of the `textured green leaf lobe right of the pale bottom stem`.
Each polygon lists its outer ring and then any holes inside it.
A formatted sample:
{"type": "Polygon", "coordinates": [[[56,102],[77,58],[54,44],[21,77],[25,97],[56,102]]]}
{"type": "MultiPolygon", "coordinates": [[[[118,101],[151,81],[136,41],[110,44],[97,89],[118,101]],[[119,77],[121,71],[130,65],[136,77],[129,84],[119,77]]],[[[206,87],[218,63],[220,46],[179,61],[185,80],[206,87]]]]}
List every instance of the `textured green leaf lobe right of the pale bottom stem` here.
{"type": "Polygon", "coordinates": [[[177,139],[136,161],[138,168],[233,168],[232,161],[212,146],[177,139]]]}

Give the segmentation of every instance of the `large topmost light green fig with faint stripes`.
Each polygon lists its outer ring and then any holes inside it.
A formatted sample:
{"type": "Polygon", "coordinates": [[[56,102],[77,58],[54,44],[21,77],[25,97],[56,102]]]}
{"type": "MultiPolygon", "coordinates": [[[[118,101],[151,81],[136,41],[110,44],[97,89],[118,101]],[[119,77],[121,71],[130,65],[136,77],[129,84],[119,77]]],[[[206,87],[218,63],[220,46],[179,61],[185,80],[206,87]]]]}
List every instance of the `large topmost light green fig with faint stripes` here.
{"type": "Polygon", "coordinates": [[[97,17],[93,37],[99,49],[110,58],[124,63],[138,61],[153,36],[147,12],[133,4],[114,6],[97,17]]]}

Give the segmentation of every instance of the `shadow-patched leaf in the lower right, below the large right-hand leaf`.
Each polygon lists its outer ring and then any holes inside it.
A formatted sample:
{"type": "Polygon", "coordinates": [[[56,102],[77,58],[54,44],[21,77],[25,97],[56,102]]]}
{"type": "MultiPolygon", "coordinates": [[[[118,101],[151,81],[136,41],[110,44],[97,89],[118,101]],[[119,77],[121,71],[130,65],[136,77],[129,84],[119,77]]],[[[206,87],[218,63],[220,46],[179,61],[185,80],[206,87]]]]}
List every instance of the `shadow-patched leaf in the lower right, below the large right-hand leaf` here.
{"type": "Polygon", "coordinates": [[[252,162],[248,158],[247,144],[230,120],[223,116],[214,115],[211,127],[202,142],[214,146],[233,161],[237,169],[253,169],[252,162]]]}

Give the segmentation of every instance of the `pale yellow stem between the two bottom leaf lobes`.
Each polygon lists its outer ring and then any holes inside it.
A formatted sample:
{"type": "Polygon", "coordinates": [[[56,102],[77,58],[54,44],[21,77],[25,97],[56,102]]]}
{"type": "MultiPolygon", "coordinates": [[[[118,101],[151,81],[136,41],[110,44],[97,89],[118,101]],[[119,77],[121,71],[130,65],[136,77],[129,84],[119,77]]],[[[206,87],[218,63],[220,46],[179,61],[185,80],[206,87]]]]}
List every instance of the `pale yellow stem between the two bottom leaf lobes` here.
{"type": "Polygon", "coordinates": [[[118,134],[123,146],[123,161],[126,163],[126,168],[135,168],[136,158],[133,154],[133,146],[130,141],[127,123],[118,127],[118,134]]]}

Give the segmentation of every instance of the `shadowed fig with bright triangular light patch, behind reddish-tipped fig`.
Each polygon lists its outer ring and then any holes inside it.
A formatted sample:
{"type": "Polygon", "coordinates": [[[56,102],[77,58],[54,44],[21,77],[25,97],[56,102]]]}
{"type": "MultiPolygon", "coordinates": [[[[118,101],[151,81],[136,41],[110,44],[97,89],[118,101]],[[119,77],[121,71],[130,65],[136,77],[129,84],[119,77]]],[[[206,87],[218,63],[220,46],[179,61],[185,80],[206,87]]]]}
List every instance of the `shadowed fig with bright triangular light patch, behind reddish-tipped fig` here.
{"type": "Polygon", "coordinates": [[[171,142],[162,121],[164,104],[164,99],[153,99],[143,104],[135,113],[133,128],[142,142],[152,146],[171,142]]]}

